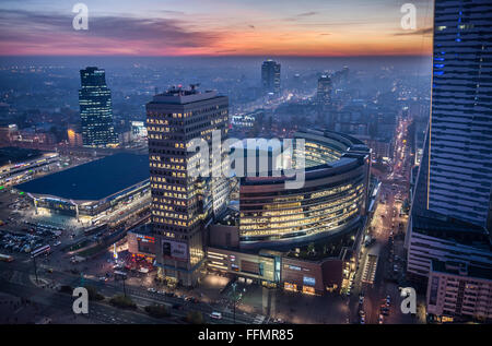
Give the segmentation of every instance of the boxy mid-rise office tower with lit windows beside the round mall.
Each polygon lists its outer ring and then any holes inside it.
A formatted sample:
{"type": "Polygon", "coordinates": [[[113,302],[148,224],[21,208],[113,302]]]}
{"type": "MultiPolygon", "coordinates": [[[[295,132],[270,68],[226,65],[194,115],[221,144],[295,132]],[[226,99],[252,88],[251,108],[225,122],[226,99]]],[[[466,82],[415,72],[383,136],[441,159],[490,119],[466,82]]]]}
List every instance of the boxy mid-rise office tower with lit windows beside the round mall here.
{"type": "Polygon", "coordinates": [[[229,184],[223,178],[189,175],[188,168],[204,156],[188,152],[187,145],[203,139],[213,167],[218,159],[226,163],[226,152],[216,157],[211,144],[212,131],[220,131],[222,141],[227,138],[229,99],[194,85],[172,88],[147,104],[147,116],[157,266],[167,279],[192,286],[204,259],[204,228],[224,210],[229,184]]]}

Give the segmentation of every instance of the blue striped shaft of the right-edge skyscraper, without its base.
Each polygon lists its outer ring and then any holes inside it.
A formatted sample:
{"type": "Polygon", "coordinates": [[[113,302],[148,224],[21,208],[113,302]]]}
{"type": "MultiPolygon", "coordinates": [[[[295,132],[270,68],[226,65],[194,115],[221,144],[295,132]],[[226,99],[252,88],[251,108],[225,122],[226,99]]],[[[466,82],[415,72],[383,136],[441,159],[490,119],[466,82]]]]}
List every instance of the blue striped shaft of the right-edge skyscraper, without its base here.
{"type": "Polygon", "coordinates": [[[487,227],[492,187],[492,2],[435,3],[426,208],[487,227]]]}

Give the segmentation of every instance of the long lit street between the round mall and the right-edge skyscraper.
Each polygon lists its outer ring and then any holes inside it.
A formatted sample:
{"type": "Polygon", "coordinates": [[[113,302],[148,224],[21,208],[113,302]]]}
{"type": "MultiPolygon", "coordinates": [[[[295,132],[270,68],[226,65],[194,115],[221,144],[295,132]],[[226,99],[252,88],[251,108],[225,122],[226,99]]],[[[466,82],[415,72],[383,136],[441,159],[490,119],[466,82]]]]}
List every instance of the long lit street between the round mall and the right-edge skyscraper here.
{"type": "Polygon", "coordinates": [[[415,318],[401,313],[398,282],[391,281],[391,275],[396,275],[399,279],[405,267],[399,256],[395,256],[396,253],[402,252],[402,242],[395,239],[401,238],[407,223],[407,216],[400,216],[400,210],[402,201],[408,196],[411,169],[409,146],[406,145],[408,126],[408,120],[399,120],[394,162],[389,171],[378,177],[382,181],[379,200],[384,202],[378,203],[370,225],[373,243],[362,250],[349,301],[351,323],[360,323],[361,310],[365,313],[365,323],[379,323],[380,306],[386,305],[387,296],[390,298],[389,314],[383,318],[383,323],[417,322],[415,318]],[[398,271],[395,271],[396,269],[398,271]],[[362,303],[360,303],[361,295],[364,296],[362,303]]]}

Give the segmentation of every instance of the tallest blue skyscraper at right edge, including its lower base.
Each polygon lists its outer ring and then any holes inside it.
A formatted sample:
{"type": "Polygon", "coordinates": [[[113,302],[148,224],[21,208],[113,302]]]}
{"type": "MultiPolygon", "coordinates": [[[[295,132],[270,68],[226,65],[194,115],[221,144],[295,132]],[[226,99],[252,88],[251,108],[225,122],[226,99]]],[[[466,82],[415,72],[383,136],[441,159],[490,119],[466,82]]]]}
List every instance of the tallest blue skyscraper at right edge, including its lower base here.
{"type": "Polygon", "coordinates": [[[407,234],[407,271],[492,267],[492,2],[436,0],[432,98],[407,234]]]}

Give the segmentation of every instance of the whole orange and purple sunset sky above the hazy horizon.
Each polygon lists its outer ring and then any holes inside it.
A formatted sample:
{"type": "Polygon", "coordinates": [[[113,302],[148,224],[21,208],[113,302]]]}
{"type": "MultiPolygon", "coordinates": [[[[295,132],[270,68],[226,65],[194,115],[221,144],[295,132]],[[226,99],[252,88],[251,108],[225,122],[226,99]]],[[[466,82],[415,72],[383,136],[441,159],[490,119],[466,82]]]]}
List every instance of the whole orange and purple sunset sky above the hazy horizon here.
{"type": "Polygon", "coordinates": [[[430,0],[2,0],[0,56],[429,55],[430,0]],[[417,31],[400,8],[417,7],[417,31]]]}

